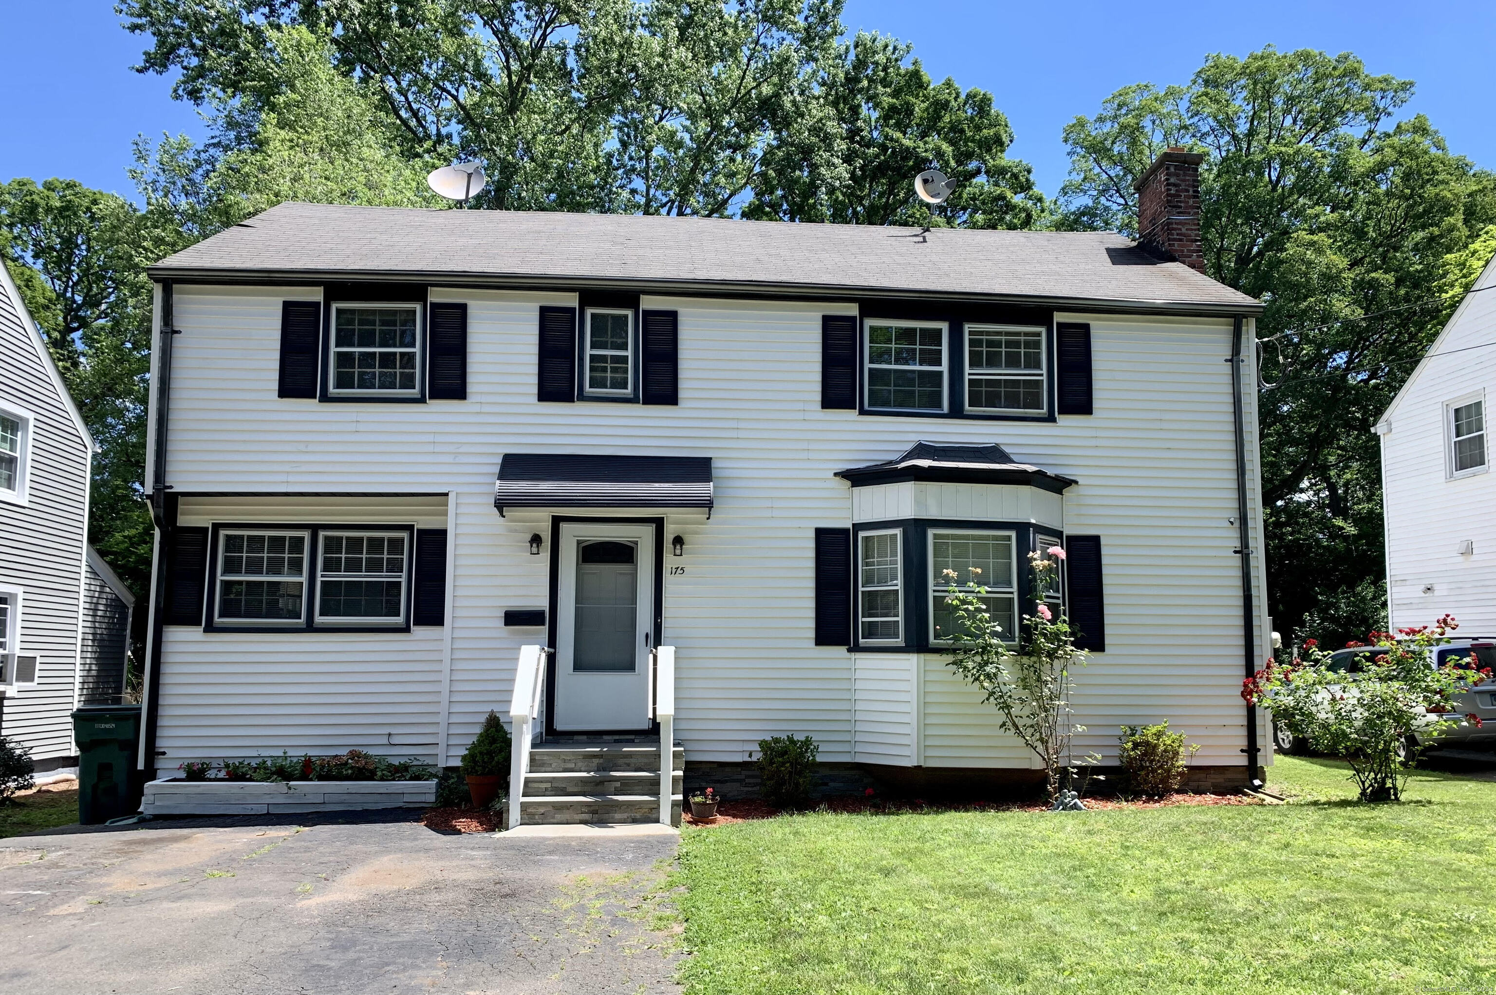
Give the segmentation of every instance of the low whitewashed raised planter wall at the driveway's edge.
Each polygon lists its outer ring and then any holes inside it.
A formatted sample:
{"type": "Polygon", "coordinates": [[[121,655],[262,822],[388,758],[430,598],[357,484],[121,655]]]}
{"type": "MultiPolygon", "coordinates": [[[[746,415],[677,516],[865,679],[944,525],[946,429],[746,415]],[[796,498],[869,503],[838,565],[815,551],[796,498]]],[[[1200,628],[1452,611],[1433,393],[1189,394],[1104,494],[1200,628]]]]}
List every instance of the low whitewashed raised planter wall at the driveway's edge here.
{"type": "Polygon", "coordinates": [[[352,808],[431,808],[435,781],[184,781],[145,784],[147,815],[260,815],[352,808]]]}

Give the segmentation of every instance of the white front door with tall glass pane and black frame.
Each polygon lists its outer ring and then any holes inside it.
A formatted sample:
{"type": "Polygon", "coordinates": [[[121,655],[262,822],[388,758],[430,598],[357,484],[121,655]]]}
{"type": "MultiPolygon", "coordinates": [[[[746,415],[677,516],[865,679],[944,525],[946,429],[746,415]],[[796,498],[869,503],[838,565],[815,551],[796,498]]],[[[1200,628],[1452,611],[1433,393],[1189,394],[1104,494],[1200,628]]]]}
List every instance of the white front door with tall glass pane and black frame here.
{"type": "Polygon", "coordinates": [[[555,727],[648,729],[654,525],[562,522],[560,545],[555,727]]]}

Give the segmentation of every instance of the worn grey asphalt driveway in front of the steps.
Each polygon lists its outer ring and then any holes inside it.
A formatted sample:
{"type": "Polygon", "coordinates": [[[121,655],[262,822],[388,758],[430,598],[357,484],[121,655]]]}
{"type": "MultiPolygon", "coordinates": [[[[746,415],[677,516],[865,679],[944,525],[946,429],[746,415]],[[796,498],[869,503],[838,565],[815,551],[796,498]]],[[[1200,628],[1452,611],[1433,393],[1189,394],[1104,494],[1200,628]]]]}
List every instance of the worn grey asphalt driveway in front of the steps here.
{"type": "Polygon", "coordinates": [[[0,991],[679,991],[655,892],[673,836],[254,820],[0,841],[0,991]]]}

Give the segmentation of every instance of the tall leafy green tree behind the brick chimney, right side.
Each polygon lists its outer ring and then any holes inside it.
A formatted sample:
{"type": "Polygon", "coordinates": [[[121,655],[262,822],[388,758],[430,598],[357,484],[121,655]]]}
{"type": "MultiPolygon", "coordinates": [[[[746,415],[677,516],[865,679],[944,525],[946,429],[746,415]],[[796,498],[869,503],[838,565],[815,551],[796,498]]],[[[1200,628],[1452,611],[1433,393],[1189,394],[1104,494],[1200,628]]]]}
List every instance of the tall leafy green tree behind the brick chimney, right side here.
{"type": "Polygon", "coordinates": [[[1445,257],[1496,220],[1496,180],[1448,151],[1412,84],[1354,55],[1210,55],[1186,87],[1125,87],[1065,127],[1064,227],[1135,232],[1132,183],[1204,153],[1206,271],[1260,298],[1270,610],[1324,640],[1385,618],[1372,425],[1438,332],[1445,257]]]}

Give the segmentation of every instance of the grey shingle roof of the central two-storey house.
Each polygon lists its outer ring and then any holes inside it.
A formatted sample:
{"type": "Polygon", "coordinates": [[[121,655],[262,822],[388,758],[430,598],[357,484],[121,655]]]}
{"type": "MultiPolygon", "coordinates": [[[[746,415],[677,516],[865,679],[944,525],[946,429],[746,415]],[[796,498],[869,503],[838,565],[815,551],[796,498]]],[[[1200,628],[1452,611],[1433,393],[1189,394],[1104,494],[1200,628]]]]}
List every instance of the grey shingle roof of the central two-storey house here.
{"type": "Polygon", "coordinates": [[[951,295],[1254,313],[1252,298],[1110,232],[281,203],[151,268],[159,278],[411,278],[830,295],[951,295]]]}

